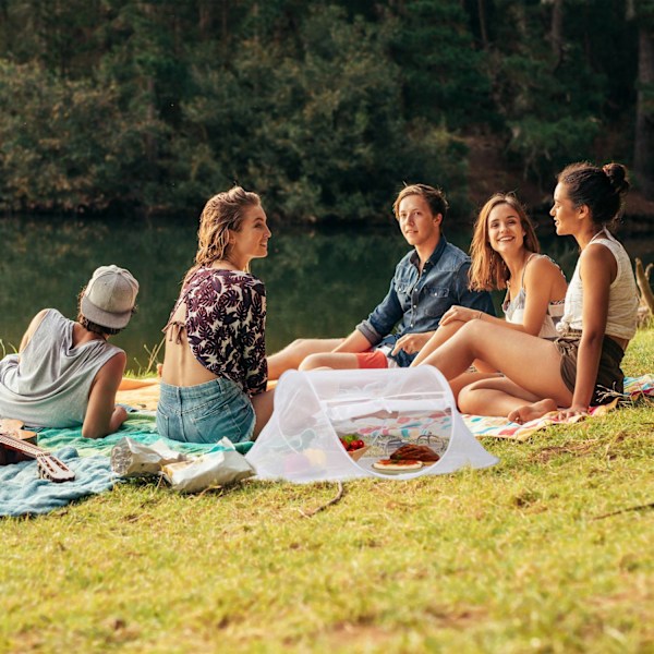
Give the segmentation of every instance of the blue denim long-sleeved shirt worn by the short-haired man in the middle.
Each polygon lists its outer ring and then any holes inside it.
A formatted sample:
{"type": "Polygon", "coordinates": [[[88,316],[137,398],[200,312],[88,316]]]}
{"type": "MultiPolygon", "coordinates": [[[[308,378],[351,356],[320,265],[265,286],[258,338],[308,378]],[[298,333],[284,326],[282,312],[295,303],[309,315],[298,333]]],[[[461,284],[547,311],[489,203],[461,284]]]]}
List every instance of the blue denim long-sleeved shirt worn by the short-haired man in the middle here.
{"type": "MultiPolygon", "coordinates": [[[[395,346],[404,334],[433,331],[443,314],[455,304],[495,315],[493,300],[486,291],[468,288],[470,257],[440,237],[436,250],[419,272],[415,250],[409,252],[396,266],[388,294],[375,311],[356,326],[375,346],[395,346]],[[397,330],[391,334],[397,325],[397,330]]],[[[400,366],[411,364],[415,354],[403,350],[393,359],[400,366]]]]}

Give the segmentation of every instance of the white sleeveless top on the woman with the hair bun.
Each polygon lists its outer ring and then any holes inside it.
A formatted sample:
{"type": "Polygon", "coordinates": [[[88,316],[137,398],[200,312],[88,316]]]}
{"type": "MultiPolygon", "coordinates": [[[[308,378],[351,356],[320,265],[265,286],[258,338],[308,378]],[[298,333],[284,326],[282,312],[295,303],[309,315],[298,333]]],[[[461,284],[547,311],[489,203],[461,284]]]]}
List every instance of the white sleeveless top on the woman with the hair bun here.
{"type": "MultiPolygon", "coordinates": [[[[608,314],[606,316],[605,334],[606,336],[630,340],[635,334],[638,293],[629,255],[625,247],[622,247],[622,244],[606,228],[596,233],[591,239],[591,243],[600,243],[608,247],[618,265],[618,272],[608,292],[608,314]]],[[[579,272],[580,261],[581,257],[577,262],[574,274],[566,293],[564,317],[557,325],[557,331],[561,335],[569,331],[583,330],[583,284],[579,272]]]]}

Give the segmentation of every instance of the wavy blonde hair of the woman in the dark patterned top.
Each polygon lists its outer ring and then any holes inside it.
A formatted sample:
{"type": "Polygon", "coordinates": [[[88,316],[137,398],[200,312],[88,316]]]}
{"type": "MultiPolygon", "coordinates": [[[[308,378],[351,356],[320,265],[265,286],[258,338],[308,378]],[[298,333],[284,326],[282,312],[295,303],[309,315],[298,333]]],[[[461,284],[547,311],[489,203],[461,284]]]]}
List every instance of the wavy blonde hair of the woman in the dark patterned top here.
{"type": "Polygon", "coordinates": [[[243,209],[261,204],[261,197],[256,193],[241,186],[214,195],[199,216],[195,265],[186,272],[185,278],[202,266],[229,259],[229,230],[238,232],[243,223],[243,209]]]}

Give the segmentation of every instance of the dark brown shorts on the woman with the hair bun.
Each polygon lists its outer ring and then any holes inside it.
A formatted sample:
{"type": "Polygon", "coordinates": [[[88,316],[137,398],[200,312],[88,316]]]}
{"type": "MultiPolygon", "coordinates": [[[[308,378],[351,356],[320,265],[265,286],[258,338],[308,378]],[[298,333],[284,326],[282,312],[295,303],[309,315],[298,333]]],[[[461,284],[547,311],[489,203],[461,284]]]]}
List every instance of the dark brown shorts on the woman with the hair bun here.
{"type": "MultiPolygon", "coordinates": [[[[561,378],[570,392],[574,392],[577,382],[577,356],[581,337],[561,337],[554,341],[561,354],[561,378]]],[[[600,367],[591,405],[607,404],[615,399],[613,393],[625,391],[625,374],[620,370],[620,363],[625,356],[625,350],[616,341],[605,336],[602,341],[602,354],[600,355],[600,367]]]]}

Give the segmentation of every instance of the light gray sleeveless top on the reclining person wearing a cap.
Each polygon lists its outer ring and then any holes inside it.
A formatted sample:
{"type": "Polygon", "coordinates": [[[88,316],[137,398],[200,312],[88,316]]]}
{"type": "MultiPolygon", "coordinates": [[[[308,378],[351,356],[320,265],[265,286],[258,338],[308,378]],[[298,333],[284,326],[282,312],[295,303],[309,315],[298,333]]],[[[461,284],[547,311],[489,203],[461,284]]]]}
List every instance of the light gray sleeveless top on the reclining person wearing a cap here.
{"type": "Polygon", "coordinates": [[[15,417],[31,427],[84,422],[96,374],[122,350],[105,340],[75,348],[73,326],[49,308],[23,352],[0,361],[0,417],[15,417]]]}

